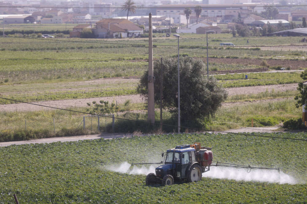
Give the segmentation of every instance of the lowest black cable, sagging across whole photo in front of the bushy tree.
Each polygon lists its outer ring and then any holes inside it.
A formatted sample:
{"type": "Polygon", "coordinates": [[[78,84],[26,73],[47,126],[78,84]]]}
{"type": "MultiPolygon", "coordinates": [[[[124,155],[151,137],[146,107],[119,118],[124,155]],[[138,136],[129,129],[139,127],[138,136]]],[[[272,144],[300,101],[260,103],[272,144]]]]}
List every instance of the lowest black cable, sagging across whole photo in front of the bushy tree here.
{"type": "MultiPolygon", "coordinates": [[[[40,105],[40,104],[34,104],[34,103],[19,101],[19,100],[10,99],[10,98],[3,98],[3,97],[0,97],[0,98],[1,98],[1,99],[4,99],[4,100],[10,100],[10,101],[15,101],[15,102],[20,102],[20,103],[27,103],[27,104],[31,104],[31,105],[43,106],[43,107],[53,108],[53,109],[58,109],[58,110],[66,110],[66,111],[72,111],[72,112],[76,112],[76,113],[90,114],[90,113],[87,113],[87,112],[82,112],[82,111],[77,111],[77,110],[68,110],[68,109],[57,108],[57,107],[52,107],[52,106],[44,106],[44,105],[40,105]]],[[[90,114],[90,115],[102,116],[102,115],[99,115],[99,114],[90,114]]],[[[111,116],[103,116],[103,117],[110,117],[110,118],[113,118],[113,117],[111,117],[111,116]]],[[[119,120],[126,120],[126,121],[141,122],[141,123],[146,123],[146,124],[160,125],[160,124],[157,124],[157,123],[150,123],[150,122],[147,122],[147,121],[137,121],[137,120],[131,120],[131,119],[119,118],[119,117],[114,117],[114,118],[115,118],[115,119],[119,119],[119,120]]],[[[178,126],[176,126],[176,125],[167,125],[167,124],[162,124],[162,125],[164,125],[164,126],[169,126],[169,127],[176,127],[176,128],[178,128],[178,126]]],[[[191,128],[191,127],[184,127],[184,126],[180,126],[180,128],[195,129],[195,130],[210,131],[210,132],[213,131],[213,132],[220,132],[220,133],[231,133],[231,132],[226,132],[226,131],[207,130],[207,129],[191,128]]],[[[254,134],[246,134],[246,133],[231,133],[231,134],[238,134],[238,135],[244,135],[244,136],[253,136],[253,137],[267,137],[267,138],[276,138],[276,139],[307,141],[306,139],[289,138],[289,137],[273,137],[273,136],[254,135],[254,134]]]]}

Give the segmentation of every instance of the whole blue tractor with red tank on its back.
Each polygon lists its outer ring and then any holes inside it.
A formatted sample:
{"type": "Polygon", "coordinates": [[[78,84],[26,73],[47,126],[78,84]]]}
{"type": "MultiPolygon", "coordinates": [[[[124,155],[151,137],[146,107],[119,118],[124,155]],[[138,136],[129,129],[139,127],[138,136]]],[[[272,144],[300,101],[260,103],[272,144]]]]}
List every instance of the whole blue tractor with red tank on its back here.
{"type": "Polygon", "coordinates": [[[164,164],[156,168],[156,173],[146,176],[146,185],[168,186],[175,181],[200,181],[202,173],[210,170],[210,150],[211,148],[200,148],[199,143],[182,144],[167,150],[166,154],[162,153],[164,164]]]}

